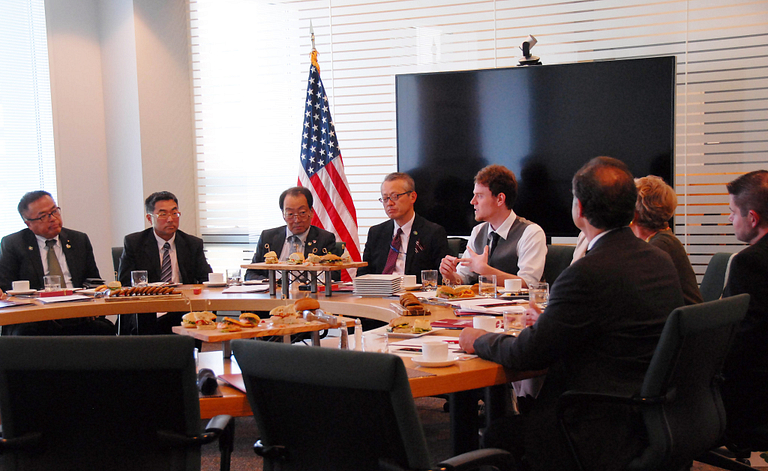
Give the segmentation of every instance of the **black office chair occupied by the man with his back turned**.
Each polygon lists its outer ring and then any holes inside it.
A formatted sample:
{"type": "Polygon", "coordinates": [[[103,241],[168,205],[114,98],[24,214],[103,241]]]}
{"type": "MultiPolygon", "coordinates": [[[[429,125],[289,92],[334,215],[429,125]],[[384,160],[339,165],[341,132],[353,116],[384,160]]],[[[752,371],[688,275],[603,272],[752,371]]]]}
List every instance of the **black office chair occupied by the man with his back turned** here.
{"type": "Polygon", "coordinates": [[[626,404],[638,410],[647,445],[628,470],[683,469],[714,448],[725,431],[720,371],[748,304],[749,295],[742,294],[675,309],[643,385],[632,397],[578,391],[560,396],[558,421],[579,468],[590,469],[580,459],[564,416],[584,403],[626,404]]]}

